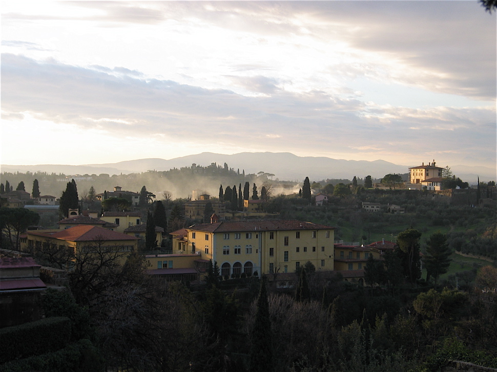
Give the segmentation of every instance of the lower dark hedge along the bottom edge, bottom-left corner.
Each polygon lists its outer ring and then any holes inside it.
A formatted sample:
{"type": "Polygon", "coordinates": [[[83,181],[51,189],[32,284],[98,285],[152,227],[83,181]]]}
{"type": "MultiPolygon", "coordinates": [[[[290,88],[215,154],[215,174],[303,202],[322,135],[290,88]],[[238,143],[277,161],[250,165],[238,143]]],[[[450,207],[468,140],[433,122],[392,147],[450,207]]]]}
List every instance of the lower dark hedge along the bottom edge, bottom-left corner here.
{"type": "Polygon", "coordinates": [[[0,365],[0,372],[101,371],[102,359],[90,340],[83,339],[53,353],[14,360],[0,365]]]}

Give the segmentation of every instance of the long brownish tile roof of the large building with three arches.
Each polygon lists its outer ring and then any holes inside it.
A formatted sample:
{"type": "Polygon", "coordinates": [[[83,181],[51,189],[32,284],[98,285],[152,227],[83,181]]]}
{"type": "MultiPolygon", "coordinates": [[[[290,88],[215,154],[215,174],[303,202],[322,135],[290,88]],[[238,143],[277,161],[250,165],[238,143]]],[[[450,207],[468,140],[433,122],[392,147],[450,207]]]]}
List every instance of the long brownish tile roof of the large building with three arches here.
{"type": "Polygon", "coordinates": [[[330,230],[334,227],[313,224],[297,220],[268,220],[268,221],[223,221],[215,224],[198,224],[187,228],[206,232],[237,232],[237,231],[286,231],[286,230],[330,230]]]}

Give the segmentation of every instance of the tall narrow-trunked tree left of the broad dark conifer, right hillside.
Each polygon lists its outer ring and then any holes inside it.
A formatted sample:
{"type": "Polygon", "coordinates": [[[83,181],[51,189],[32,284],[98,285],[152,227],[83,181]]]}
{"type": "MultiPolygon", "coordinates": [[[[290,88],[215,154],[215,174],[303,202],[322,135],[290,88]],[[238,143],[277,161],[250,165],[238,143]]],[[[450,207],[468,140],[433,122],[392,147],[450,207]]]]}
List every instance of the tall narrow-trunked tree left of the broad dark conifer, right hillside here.
{"type": "Polygon", "coordinates": [[[403,260],[404,275],[410,281],[411,286],[414,286],[416,280],[421,276],[420,237],[421,233],[416,229],[407,229],[397,236],[397,246],[403,260]]]}

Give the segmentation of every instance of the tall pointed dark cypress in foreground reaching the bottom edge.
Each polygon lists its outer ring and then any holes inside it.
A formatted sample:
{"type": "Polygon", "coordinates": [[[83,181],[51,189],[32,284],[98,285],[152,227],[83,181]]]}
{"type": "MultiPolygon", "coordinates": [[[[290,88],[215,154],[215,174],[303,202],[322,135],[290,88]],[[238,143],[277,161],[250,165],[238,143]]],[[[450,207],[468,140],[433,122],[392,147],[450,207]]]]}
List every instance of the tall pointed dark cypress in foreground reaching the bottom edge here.
{"type": "Polygon", "coordinates": [[[257,311],[254,327],[251,333],[250,371],[273,372],[273,345],[271,333],[271,318],[267,302],[266,283],[261,280],[261,289],[257,298],[257,311]]]}

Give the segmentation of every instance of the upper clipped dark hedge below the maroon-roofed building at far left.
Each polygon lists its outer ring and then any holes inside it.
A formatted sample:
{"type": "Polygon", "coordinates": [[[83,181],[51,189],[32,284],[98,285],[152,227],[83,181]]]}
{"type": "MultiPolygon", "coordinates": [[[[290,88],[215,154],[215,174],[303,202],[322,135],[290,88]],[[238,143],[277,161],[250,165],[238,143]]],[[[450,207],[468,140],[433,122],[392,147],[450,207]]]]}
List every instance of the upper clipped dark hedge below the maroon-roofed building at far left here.
{"type": "Polygon", "coordinates": [[[71,321],[51,317],[0,329],[0,363],[54,352],[71,339],[71,321]]]}

